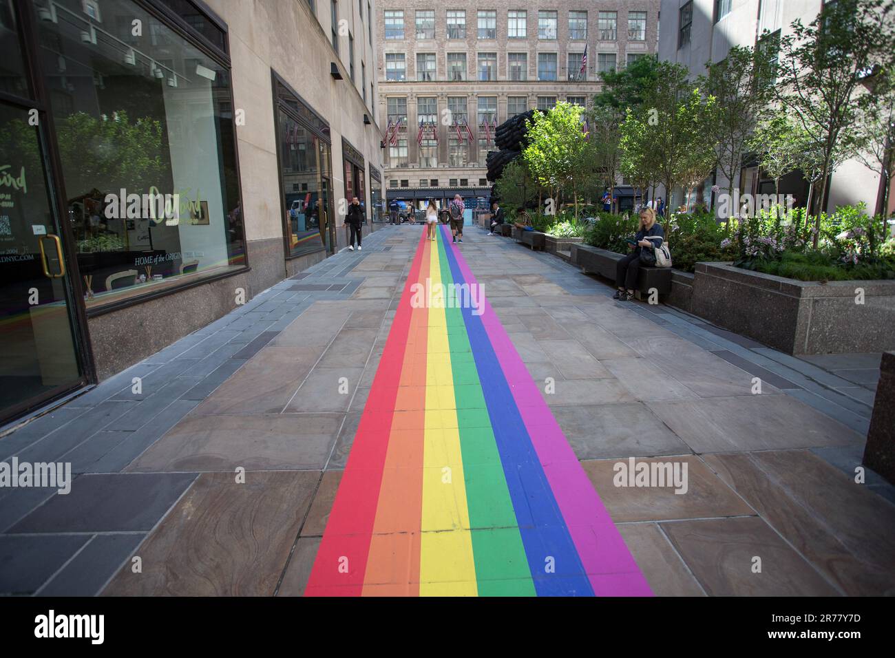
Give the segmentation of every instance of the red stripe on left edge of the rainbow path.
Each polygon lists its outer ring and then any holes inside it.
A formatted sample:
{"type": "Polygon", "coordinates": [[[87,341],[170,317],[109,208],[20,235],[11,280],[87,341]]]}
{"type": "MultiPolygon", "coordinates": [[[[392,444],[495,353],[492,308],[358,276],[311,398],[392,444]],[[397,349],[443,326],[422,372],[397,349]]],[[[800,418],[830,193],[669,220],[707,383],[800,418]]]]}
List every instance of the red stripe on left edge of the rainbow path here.
{"type": "Polygon", "coordinates": [[[305,596],[362,594],[388,437],[411,327],[411,286],[420,278],[424,238],[425,233],[420,236],[410,275],[373,379],[370,397],[363,407],[361,423],[311,569],[305,596]]]}

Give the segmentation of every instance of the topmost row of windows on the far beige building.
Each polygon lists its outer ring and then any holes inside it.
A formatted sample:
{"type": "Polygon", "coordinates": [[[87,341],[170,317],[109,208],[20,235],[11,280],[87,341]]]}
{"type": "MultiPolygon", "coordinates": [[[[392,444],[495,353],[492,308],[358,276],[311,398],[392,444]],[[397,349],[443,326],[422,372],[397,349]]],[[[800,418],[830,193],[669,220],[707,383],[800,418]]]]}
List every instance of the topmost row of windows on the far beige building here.
{"type": "MultiPolygon", "coordinates": [[[[538,38],[555,40],[558,38],[559,13],[555,10],[538,12],[538,38]]],[[[435,38],[435,10],[417,10],[414,15],[416,38],[435,38]]],[[[466,38],[465,10],[448,9],[445,15],[447,38],[466,38]]],[[[587,39],[587,12],[568,13],[568,38],[587,39]]],[[[479,10],[476,13],[476,37],[493,39],[498,37],[498,13],[494,10],[479,10]]],[[[618,12],[598,12],[597,33],[602,41],[618,38],[618,12]]],[[[402,9],[386,10],[385,37],[405,38],[405,12],[402,9]]],[[[526,10],[507,11],[507,38],[528,38],[528,12],[526,10]]],[[[646,40],[646,12],[627,13],[627,39],[646,40]]]]}

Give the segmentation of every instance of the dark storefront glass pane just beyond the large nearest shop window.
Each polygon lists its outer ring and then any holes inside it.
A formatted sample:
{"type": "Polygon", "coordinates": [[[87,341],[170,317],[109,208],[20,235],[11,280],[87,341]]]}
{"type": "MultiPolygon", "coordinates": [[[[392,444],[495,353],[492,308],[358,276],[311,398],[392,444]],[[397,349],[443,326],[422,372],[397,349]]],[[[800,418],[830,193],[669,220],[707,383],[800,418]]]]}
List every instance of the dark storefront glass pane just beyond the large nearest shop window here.
{"type": "Polygon", "coordinates": [[[282,110],[279,140],[288,255],[318,252],[327,241],[329,145],[282,110]]]}

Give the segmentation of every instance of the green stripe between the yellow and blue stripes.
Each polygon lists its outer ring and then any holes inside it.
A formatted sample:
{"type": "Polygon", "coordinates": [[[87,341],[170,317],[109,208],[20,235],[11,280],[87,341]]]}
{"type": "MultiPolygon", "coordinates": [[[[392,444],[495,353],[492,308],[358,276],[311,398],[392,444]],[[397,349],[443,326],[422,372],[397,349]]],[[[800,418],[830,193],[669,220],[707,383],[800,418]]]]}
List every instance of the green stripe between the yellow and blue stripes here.
{"type": "MultiPolygon", "coordinates": [[[[452,284],[454,278],[440,230],[438,238],[441,281],[452,284]]],[[[494,432],[490,425],[482,427],[482,423],[472,420],[479,414],[487,415],[488,410],[475,361],[469,358],[472,346],[463,313],[457,308],[446,308],[445,315],[479,594],[535,596],[494,432]]]]}

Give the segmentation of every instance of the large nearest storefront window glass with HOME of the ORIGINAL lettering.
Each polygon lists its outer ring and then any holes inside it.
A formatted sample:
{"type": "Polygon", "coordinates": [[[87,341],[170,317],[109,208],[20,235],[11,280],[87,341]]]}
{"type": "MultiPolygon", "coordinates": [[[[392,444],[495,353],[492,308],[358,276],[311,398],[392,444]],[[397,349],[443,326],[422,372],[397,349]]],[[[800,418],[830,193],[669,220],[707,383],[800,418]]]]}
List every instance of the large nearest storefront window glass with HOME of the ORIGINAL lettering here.
{"type": "Polygon", "coordinates": [[[128,0],[50,6],[38,57],[88,308],[243,267],[229,71],[128,0]]]}

